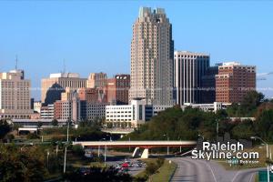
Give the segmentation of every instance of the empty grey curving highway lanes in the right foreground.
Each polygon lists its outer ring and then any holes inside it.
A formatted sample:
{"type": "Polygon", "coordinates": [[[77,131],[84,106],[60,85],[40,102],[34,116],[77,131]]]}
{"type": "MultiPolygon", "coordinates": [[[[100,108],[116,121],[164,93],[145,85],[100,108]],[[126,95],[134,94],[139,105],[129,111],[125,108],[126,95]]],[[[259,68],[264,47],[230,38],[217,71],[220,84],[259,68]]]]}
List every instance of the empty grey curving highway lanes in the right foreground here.
{"type": "Polygon", "coordinates": [[[260,169],[226,170],[217,162],[191,159],[190,157],[168,158],[177,163],[177,170],[172,181],[197,182],[254,182],[255,174],[260,169]]]}

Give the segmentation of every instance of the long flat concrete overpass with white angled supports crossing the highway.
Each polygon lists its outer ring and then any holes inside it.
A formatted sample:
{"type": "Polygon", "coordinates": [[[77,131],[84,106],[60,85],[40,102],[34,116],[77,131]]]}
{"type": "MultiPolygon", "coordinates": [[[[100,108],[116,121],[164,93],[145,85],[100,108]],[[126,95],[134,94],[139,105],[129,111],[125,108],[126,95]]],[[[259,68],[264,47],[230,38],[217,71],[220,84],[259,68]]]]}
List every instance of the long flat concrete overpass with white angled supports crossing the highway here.
{"type": "Polygon", "coordinates": [[[133,157],[139,148],[144,148],[142,158],[148,157],[148,149],[153,147],[196,147],[196,141],[92,141],[92,142],[73,142],[73,145],[82,147],[136,147],[133,157]]]}

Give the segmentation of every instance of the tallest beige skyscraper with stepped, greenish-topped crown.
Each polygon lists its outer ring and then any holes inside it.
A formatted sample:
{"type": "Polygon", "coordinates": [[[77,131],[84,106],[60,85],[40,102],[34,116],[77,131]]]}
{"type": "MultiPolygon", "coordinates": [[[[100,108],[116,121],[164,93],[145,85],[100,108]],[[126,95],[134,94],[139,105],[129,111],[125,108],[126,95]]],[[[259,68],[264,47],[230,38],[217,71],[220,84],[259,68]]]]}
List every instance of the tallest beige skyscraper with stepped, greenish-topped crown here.
{"type": "Polygon", "coordinates": [[[173,105],[173,58],[172,25],[165,10],[141,7],[133,25],[129,100],[173,105]]]}

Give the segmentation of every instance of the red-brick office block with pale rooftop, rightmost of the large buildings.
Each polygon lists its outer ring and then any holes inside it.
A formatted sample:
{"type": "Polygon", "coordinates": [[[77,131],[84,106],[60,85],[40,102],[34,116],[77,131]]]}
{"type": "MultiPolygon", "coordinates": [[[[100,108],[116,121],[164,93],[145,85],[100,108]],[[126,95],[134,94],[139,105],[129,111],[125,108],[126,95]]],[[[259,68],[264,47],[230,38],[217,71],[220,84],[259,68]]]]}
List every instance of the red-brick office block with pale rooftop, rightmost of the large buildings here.
{"type": "Polygon", "coordinates": [[[218,66],[216,100],[223,103],[240,103],[250,90],[256,89],[256,66],[242,66],[227,62],[218,66]]]}

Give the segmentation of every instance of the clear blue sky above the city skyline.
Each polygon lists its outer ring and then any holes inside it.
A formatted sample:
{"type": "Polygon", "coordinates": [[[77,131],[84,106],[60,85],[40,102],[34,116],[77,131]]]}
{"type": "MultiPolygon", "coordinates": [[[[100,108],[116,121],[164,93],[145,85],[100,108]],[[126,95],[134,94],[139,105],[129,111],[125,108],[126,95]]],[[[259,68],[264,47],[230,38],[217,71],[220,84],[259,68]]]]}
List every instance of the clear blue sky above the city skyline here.
{"type": "MultiPolygon", "coordinates": [[[[177,50],[205,52],[211,65],[237,60],[273,71],[270,1],[0,1],[0,71],[20,68],[40,86],[63,69],[86,77],[129,73],[132,25],[140,6],[164,7],[177,50]]],[[[273,87],[273,76],[258,87],[273,87]]],[[[264,91],[273,96],[273,91],[264,91]]],[[[32,93],[39,99],[40,92],[32,93]]]]}

